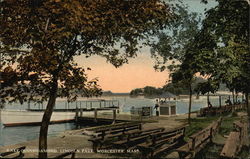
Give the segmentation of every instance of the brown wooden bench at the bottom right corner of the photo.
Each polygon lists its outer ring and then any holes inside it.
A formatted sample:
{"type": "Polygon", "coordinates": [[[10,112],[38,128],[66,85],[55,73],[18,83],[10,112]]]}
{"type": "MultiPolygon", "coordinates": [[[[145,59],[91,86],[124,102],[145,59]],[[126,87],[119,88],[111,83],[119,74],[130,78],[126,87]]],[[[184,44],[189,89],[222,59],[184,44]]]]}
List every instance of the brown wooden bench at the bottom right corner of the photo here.
{"type": "Polygon", "coordinates": [[[220,153],[221,158],[236,158],[243,146],[249,146],[247,122],[236,121],[233,124],[235,131],[230,132],[220,153]]]}

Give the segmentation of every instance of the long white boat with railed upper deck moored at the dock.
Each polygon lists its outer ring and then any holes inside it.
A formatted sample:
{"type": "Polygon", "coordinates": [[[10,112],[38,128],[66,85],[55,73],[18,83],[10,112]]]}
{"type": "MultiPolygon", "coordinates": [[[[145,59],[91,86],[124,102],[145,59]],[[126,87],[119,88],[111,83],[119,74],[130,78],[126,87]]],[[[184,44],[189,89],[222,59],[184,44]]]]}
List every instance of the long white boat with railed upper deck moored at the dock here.
{"type": "MultiPolygon", "coordinates": [[[[83,116],[94,115],[94,111],[110,112],[110,110],[119,109],[119,102],[114,100],[91,100],[81,101],[82,105],[75,108],[54,109],[50,123],[65,123],[73,122],[75,120],[76,111],[81,110],[83,116]],[[85,103],[85,104],[84,104],[85,103]],[[110,104],[112,103],[112,104],[110,104]],[[114,103],[118,105],[114,105],[114,103]],[[84,107],[85,106],[85,107],[84,107]]],[[[44,109],[1,109],[0,122],[5,127],[11,126],[27,126],[40,125],[44,109]]]]}

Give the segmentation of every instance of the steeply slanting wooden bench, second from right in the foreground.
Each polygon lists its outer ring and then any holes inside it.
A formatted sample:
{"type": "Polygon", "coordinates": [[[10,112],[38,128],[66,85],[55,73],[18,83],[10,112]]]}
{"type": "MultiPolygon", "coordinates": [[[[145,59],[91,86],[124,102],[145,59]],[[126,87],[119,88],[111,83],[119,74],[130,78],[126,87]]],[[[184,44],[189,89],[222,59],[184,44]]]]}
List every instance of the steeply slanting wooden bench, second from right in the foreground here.
{"type": "Polygon", "coordinates": [[[193,158],[196,153],[202,150],[208,143],[212,142],[213,136],[218,132],[222,118],[210,124],[207,128],[190,136],[190,140],[176,151],[180,158],[193,158]]]}

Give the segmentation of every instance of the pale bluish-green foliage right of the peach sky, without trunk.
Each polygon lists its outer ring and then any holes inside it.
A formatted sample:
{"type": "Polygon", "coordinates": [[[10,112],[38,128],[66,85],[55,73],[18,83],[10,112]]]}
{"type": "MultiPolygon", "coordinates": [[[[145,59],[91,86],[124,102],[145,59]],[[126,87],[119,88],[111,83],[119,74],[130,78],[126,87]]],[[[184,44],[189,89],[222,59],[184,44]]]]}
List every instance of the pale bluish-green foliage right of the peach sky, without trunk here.
{"type": "Polygon", "coordinates": [[[175,3],[173,8],[175,17],[170,21],[167,30],[158,35],[158,41],[152,44],[151,49],[151,54],[156,59],[155,68],[161,71],[166,68],[174,71],[177,67],[176,61],[184,60],[185,52],[198,33],[201,21],[200,15],[189,11],[183,2],[175,3]],[[172,61],[172,65],[166,67],[168,61],[172,61]]]}

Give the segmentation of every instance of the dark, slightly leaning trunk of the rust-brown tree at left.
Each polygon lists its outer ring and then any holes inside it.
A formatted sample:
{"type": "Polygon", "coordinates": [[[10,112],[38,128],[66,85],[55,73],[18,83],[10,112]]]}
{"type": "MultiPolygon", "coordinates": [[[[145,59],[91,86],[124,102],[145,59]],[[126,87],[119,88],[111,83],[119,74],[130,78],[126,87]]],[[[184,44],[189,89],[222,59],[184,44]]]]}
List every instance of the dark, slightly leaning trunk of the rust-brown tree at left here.
{"type": "Polygon", "coordinates": [[[39,136],[39,158],[47,158],[47,135],[48,128],[50,123],[50,118],[52,116],[53,108],[55,106],[56,97],[57,97],[58,83],[57,79],[53,80],[50,97],[46,107],[46,110],[43,114],[43,119],[40,127],[40,136],[39,136]]]}

